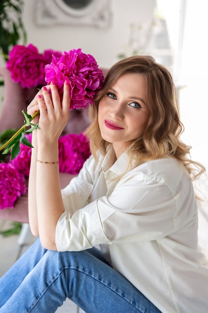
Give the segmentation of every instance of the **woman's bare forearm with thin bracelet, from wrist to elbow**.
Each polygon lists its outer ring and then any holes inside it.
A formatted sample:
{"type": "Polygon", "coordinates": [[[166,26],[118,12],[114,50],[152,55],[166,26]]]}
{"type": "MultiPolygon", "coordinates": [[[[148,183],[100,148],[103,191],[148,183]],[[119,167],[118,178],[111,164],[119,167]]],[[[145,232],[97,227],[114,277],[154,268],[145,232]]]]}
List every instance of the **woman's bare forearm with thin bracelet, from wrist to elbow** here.
{"type": "Polygon", "coordinates": [[[55,249],[56,224],[64,212],[61,196],[58,142],[38,146],[36,162],[36,198],[39,236],[42,245],[47,249],[55,249]],[[44,163],[47,162],[47,163],[44,163]],[[50,163],[55,162],[55,163],[50,163]]]}

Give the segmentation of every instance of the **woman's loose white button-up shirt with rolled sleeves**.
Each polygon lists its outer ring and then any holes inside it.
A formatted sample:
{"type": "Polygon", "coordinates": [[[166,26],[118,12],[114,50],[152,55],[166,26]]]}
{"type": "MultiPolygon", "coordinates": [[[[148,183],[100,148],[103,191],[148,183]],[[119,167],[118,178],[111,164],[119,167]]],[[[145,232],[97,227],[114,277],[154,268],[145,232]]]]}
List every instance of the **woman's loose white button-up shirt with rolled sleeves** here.
{"type": "Polygon", "coordinates": [[[128,170],[127,152],[90,156],[62,190],[56,227],[59,251],[101,244],[112,266],[162,312],[207,313],[208,267],[198,251],[194,188],[175,158],[128,170]]]}

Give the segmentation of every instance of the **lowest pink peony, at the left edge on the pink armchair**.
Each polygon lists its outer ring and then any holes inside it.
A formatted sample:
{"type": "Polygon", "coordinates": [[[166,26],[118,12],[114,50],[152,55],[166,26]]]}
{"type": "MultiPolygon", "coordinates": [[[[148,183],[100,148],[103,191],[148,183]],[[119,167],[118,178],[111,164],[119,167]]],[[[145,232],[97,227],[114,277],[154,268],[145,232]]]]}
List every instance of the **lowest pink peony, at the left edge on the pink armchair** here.
{"type": "Polygon", "coordinates": [[[13,208],[26,191],[25,178],[11,163],[0,163],[0,209],[13,208]]]}

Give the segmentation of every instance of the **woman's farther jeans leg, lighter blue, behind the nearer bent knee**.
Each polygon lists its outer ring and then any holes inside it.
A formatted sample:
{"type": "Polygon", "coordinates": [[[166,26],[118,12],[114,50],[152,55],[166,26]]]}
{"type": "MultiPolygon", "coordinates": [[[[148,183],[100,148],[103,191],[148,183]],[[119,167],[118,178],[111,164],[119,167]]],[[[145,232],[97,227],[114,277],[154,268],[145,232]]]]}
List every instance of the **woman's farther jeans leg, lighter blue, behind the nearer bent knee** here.
{"type": "Polygon", "coordinates": [[[39,262],[46,251],[41,246],[39,238],[37,238],[27,251],[0,278],[0,307],[19,287],[25,276],[39,262]]]}

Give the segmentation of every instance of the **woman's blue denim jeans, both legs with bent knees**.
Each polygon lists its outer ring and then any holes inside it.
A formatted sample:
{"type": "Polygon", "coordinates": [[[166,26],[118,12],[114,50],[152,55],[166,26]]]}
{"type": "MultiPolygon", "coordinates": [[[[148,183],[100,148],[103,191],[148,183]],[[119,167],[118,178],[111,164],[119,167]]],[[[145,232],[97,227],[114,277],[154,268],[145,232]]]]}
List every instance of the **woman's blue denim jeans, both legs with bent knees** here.
{"type": "Polygon", "coordinates": [[[0,278],[0,313],[52,313],[68,297],[87,313],[158,313],[94,250],[57,252],[39,239],[0,278]]]}

